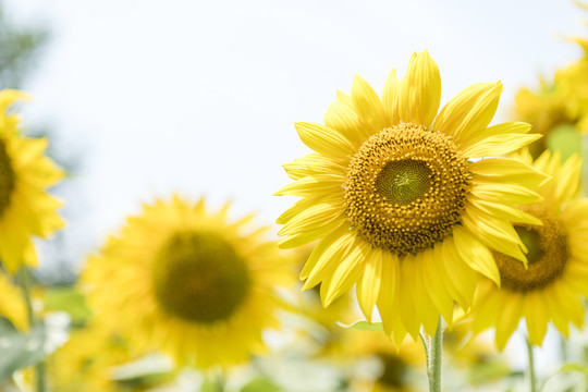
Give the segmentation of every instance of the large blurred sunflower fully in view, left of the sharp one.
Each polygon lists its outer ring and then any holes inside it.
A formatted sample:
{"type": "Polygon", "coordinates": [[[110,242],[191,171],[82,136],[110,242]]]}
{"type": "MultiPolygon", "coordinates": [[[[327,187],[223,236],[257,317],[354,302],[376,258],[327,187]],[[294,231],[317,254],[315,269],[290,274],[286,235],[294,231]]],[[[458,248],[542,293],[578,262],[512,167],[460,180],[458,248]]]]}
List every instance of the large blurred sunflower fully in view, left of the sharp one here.
{"type": "Polygon", "coordinates": [[[254,215],[229,222],[174,196],[145,205],[89,258],[82,281],[98,317],[130,344],[160,348],[180,363],[228,366],[262,353],[261,331],[278,327],[291,264],[266,228],[246,232],[254,215]]]}

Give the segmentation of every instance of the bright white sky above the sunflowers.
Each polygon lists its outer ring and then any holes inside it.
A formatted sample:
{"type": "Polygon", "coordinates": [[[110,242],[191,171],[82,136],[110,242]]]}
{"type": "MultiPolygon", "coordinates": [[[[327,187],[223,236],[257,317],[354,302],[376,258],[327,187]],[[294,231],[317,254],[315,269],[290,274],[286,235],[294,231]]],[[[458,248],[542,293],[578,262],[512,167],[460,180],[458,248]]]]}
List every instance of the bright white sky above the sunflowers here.
{"type": "MultiPolygon", "coordinates": [[[[514,91],[579,57],[558,36],[588,20],[563,0],[131,1],[11,0],[52,30],[27,90],[27,122],[50,122],[86,170],[81,196],[93,243],[140,200],[171,192],[233,199],[271,223],[292,199],[271,196],[281,166],[307,152],[293,123],[322,122],[355,73],[377,90],[428,49],[443,101],[501,79],[514,91]],[[87,198],[87,199],[86,199],[87,198]]],[[[88,249],[89,250],[89,249],[88,249]]]]}

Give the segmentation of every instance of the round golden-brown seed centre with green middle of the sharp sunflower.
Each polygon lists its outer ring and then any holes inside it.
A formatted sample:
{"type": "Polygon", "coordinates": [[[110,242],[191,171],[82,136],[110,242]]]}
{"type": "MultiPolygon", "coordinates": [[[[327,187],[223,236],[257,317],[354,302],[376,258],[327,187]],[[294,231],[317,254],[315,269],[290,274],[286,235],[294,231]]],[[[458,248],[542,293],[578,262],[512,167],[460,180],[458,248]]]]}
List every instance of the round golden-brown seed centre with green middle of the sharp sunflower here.
{"type": "Polygon", "coordinates": [[[467,160],[450,136],[400,124],[371,136],[347,167],[345,211],[373,246],[399,256],[450,234],[469,194],[467,160]]]}

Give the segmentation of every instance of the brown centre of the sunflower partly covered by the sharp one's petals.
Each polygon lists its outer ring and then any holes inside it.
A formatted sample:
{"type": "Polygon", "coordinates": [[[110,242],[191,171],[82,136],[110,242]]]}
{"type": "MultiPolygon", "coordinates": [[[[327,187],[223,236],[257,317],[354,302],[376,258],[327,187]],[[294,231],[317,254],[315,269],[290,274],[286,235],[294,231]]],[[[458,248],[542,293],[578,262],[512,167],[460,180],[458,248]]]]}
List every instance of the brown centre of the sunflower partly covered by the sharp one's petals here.
{"type": "Polygon", "coordinates": [[[542,226],[515,224],[515,230],[529,250],[528,269],[504,254],[494,253],[502,287],[511,291],[542,289],[562,275],[567,261],[567,235],[558,217],[541,206],[522,209],[543,222],[542,226]]]}

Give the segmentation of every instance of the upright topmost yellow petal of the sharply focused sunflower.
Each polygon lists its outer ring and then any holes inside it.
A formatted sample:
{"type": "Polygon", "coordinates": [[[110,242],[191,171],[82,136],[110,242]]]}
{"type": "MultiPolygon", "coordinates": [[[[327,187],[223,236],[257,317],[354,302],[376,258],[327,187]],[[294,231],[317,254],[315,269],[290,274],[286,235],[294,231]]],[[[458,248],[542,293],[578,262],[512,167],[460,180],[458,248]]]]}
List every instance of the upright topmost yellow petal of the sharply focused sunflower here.
{"type": "Polygon", "coordinates": [[[403,122],[428,127],[441,102],[441,76],[439,68],[424,50],[414,53],[401,82],[400,115],[403,122]]]}

